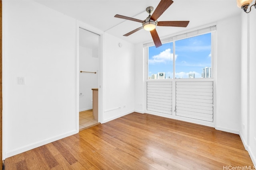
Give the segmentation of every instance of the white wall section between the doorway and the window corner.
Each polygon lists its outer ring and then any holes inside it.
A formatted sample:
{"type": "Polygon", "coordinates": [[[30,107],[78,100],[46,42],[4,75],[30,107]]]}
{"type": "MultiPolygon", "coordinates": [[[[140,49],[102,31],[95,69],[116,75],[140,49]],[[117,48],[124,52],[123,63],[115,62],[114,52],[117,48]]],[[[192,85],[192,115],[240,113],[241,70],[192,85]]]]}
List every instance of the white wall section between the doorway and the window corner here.
{"type": "Polygon", "coordinates": [[[107,122],[134,111],[135,46],[108,33],[104,42],[103,119],[107,122]]]}

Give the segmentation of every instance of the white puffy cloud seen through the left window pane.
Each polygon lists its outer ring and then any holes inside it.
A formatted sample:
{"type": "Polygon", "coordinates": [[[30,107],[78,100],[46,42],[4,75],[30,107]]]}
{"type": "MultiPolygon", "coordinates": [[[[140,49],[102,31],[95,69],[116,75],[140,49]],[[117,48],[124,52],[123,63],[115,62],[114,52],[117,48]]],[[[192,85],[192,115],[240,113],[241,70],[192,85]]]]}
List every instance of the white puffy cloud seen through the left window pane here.
{"type": "MultiPolygon", "coordinates": [[[[177,59],[177,55],[175,55],[175,59],[177,59]]],[[[171,49],[166,49],[165,51],[162,51],[160,54],[154,55],[152,59],[148,60],[148,63],[166,63],[168,61],[173,61],[173,53],[171,53],[171,49]]]]}

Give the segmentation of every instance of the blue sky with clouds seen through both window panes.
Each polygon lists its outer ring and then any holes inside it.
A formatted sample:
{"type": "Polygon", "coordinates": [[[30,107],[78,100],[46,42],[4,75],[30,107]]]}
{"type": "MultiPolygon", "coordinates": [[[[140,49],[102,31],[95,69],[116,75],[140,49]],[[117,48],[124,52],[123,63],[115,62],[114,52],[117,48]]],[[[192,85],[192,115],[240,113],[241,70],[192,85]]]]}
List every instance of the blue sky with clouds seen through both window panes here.
{"type": "Polygon", "coordinates": [[[188,78],[189,73],[201,78],[202,68],[211,67],[211,33],[175,41],[175,57],[173,42],[149,47],[148,57],[148,76],[165,72],[166,78],[173,78],[175,59],[176,78],[188,78]]]}

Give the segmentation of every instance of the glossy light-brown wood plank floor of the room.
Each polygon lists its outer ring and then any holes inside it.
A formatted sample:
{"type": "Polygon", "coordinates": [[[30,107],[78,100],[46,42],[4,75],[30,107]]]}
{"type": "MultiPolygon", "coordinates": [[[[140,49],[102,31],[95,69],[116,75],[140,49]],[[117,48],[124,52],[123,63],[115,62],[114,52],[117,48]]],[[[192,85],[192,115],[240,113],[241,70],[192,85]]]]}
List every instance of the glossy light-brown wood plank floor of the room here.
{"type": "Polygon", "coordinates": [[[6,158],[6,170],[166,170],[251,166],[239,135],[131,113],[6,158]]]}

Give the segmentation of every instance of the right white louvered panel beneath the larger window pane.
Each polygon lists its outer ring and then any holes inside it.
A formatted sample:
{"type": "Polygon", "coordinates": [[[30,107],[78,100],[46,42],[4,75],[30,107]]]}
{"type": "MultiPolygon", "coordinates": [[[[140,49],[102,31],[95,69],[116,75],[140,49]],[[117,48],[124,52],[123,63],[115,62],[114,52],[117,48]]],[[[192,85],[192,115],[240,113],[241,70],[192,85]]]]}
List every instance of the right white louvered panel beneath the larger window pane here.
{"type": "Polygon", "coordinates": [[[176,115],[213,121],[213,82],[176,82],[176,115]]]}

